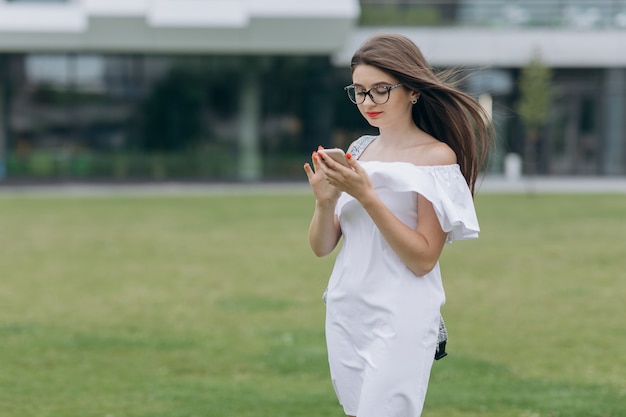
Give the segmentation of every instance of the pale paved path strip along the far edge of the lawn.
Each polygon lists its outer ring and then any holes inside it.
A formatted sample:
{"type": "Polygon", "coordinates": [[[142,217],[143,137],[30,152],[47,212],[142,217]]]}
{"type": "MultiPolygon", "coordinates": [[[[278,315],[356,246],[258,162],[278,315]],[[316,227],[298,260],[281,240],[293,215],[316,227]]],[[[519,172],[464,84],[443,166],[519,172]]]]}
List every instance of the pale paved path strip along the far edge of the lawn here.
{"type": "MultiPolygon", "coordinates": [[[[477,193],[624,193],[626,177],[479,178],[477,193]]],[[[306,182],[289,183],[0,183],[0,196],[185,196],[223,194],[308,194],[306,182]]]]}

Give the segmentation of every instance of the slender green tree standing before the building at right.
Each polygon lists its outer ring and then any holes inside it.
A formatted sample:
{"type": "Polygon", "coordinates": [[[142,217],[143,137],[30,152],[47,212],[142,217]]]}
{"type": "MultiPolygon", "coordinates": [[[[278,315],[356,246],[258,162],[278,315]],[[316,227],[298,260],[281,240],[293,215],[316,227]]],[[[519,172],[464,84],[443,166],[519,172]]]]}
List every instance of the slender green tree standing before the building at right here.
{"type": "Polygon", "coordinates": [[[516,110],[524,128],[524,158],[527,172],[531,175],[536,172],[537,144],[541,129],[550,118],[551,81],[552,71],[543,64],[538,54],[522,68],[518,84],[520,99],[516,110]]]}

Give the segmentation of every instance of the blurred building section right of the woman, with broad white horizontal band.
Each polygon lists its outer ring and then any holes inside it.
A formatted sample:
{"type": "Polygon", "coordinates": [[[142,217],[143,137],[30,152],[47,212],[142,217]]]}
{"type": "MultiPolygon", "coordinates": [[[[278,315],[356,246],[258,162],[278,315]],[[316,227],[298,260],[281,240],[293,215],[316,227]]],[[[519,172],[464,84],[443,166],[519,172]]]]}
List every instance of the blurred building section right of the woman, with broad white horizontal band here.
{"type": "Polygon", "coordinates": [[[375,26],[411,37],[438,67],[465,67],[466,88],[488,95],[503,154],[525,153],[515,112],[520,68],[533,57],[552,70],[553,105],[533,144],[535,171],[626,174],[626,1],[362,0],[361,26],[337,54],[345,63],[375,26]],[[398,27],[400,25],[400,27],[398,27]]]}

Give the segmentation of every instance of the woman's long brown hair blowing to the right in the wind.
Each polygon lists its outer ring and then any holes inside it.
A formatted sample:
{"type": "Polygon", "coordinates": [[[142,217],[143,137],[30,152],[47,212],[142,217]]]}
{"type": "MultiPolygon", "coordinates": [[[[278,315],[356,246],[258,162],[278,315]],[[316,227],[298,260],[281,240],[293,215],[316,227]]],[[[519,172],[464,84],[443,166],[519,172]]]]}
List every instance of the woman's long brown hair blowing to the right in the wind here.
{"type": "Polygon", "coordinates": [[[452,148],[473,195],[495,134],[483,107],[455,87],[456,72],[435,72],[417,45],[397,34],[367,40],[352,57],[352,71],[360,64],[372,65],[397,78],[404,88],[420,93],[413,106],[413,121],[452,148]]]}

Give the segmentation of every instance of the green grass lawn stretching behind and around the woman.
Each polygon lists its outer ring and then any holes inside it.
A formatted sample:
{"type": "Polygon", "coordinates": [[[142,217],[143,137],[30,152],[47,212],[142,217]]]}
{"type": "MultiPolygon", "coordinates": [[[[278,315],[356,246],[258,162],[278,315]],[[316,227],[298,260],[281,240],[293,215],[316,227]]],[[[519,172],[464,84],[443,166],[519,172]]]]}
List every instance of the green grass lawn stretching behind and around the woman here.
{"type": "MultiPolygon", "coordinates": [[[[479,195],[424,417],[626,415],[626,196],[479,195]]],[[[308,195],[0,198],[1,417],[340,417],[308,195]]],[[[382,416],[381,416],[382,417],[382,416]]]]}

